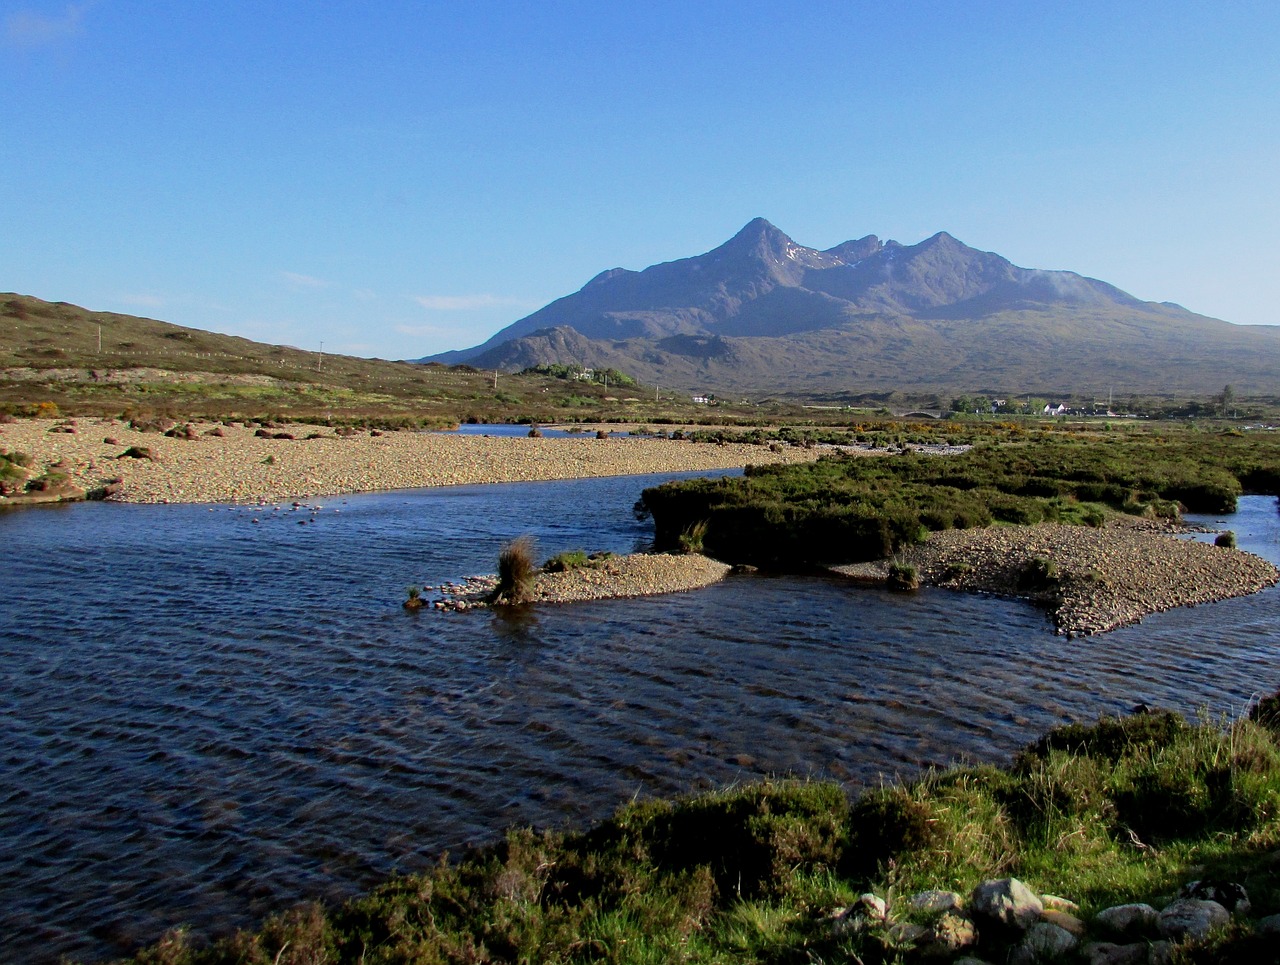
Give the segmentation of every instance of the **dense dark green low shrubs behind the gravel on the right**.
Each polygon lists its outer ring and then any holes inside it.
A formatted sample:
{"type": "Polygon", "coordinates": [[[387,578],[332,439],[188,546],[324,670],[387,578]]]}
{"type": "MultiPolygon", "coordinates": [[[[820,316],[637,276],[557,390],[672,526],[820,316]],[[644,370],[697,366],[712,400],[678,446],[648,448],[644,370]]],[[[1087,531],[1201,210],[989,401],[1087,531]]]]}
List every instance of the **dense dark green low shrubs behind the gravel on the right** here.
{"type": "Polygon", "coordinates": [[[1100,526],[1107,512],[1225,513],[1244,491],[1280,493],[1275,433],[1036,433],[1012,425],[940,458],[838,453],[645,490],[657,543],[703,526],[705,550],[772,566],[883,559],[929,531],[992,523],[1100,526]]]}

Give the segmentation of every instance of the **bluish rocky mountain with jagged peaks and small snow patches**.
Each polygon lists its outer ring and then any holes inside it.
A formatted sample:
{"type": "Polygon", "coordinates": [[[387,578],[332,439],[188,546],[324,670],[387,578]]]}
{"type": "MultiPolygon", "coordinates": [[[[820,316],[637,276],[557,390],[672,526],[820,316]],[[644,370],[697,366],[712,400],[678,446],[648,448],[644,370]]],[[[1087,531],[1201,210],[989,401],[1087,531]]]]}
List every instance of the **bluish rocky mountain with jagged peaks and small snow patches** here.
{"type": "Polygon", "coordinates": [[[613,367],[698,392],[1280,392],[1280,328],[1018,267],[946,232],[819,251],[756,218],[705,255],[611,269],[488,342],[420,361],[613,367]]]}

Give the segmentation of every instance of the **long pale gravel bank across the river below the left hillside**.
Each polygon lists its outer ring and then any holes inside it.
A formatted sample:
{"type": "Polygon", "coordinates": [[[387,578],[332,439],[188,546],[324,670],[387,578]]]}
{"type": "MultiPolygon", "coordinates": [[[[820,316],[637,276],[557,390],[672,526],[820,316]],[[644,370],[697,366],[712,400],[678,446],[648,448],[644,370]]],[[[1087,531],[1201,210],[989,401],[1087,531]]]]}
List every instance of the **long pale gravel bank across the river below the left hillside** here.
{"type": "Polygon", "coordinates": [[[809,462],[818,454],[799,447],[771,452],[763,445],[630,436],[361,431],[343,438],[333,429],[275,425],[264,431],[293,438],[265,439],[256,431],[197,422],[192,425],[196,438],[175,439],[140,433],[118,420],[19,420],[0,425],[0,447],[29,453],[41,467],[60,463],[87,491],[119,479],[119,491],[110,498],[128,503],[251,503],[420,486],[707,471],[809,462]],[[150,449],[154,458],[122,458],[131,447],[150,449]]]}

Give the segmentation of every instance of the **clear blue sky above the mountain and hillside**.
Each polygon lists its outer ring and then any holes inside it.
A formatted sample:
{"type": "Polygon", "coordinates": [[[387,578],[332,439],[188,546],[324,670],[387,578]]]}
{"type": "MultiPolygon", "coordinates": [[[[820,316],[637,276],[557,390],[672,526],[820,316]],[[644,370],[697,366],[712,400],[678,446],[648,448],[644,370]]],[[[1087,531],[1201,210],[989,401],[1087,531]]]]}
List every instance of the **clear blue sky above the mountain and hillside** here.
{"type": "Polygon", "coordinates": [[[764,216],[1280,324],[1280,4],[0,0],[0,291],[479,343],[764,216]]]}

